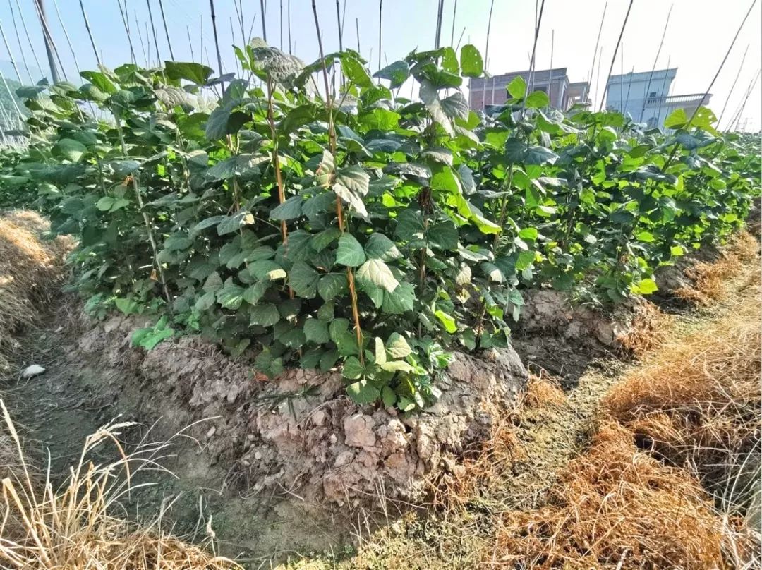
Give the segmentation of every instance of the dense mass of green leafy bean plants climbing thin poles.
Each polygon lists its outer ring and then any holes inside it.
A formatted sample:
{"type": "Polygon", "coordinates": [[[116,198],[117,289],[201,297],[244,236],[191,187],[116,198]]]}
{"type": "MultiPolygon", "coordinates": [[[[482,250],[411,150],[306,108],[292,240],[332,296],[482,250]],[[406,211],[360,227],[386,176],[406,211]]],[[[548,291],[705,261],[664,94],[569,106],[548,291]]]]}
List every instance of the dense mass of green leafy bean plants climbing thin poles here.
{"type": "Polygon", "coordinates": [[[258,374],[338,367],[356,402],[414,411],[453,351],[509,343],[523,290],[652,293],[759,195],[758,152],[708,109],[664,134],[517,78],[477,113],[470,45],[374,75],[353,50],[235,52],[242,78],[168,61],[18,92],[29,147],[4,176],[78,238],[89,309],[155,315],[146,349],[203,335],[258,374]]]}

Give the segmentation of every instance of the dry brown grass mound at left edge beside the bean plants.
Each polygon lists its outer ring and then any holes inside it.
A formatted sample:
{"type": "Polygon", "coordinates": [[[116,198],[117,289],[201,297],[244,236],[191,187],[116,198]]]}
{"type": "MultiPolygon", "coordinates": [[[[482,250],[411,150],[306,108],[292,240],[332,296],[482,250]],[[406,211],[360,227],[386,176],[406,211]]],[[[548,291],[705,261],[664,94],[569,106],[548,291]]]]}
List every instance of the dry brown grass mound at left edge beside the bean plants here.
{"type": "Polygon", "coordinates": [[[0,213],[0,371],[8,367],[9,333],[34,322],[40,304],[61,282],[70,239],[43,242],[45,219],[24,210],[0,213]]]}

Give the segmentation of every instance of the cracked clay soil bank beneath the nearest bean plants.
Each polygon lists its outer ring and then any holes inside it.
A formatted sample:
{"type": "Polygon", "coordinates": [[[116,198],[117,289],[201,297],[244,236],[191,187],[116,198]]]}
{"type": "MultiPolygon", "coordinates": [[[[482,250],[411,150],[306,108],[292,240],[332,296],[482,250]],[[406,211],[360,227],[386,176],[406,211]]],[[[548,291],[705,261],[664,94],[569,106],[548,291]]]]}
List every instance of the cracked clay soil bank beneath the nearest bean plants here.
{"type": "Polygon", "coordinates": [[[405,417],[355,404],[338,373],[289,370],[263,383],[245,363],[199,338],[133,349],[138,324],[115,317],[96,325],[80,339],[80,357],[139,373],[141,386],[114,386],[115,392],[133,391],[140,415],[161,415],[170,430],[213,418],[187,433],[213,462],[232,466],[229,485],[315,501],[358,504],[379,494],[421,500],[428,482],[453,469],[465,447],[488,437],[527,383],[511,349],[479,358],[456,354],[440,383],[440,402],[405,417]]]}

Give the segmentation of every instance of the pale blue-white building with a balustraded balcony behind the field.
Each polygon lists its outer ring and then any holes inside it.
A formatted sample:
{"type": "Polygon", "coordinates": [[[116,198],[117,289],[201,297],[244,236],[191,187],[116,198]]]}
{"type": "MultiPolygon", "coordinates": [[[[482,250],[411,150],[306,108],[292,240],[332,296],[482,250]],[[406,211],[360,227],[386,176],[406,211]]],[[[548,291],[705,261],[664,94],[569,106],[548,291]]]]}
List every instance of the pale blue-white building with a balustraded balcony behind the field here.
{"type": "Polygon", "coordinates": [[[700,105],[709,103],[711,94],[671,95],[670,88],[677,68],[657,69],[654,72],[612,75],[609,79],[606,106],[632,117],[649,128],[664,128],[666,119],[675,109],[684,109],[688,117],[700,105]]]}

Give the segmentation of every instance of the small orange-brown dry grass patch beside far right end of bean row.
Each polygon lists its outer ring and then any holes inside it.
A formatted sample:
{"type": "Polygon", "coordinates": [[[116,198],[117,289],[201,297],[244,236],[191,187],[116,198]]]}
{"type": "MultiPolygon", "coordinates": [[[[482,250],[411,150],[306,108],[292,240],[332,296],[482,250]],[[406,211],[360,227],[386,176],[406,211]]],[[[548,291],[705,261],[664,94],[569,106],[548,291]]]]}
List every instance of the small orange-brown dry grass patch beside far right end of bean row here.
{"type": "Polygon", "coordinates": [[[728,289],[725,281],[741,271],[744,264],[757,261],[759,242],[749,232],[739,232],[722,252],[717,261],[700,261],[688,268],[685,274],[693,280],[693,287],[680,287],[674,294],[681,299],[709,305],[722,299],[728,289]]]}

